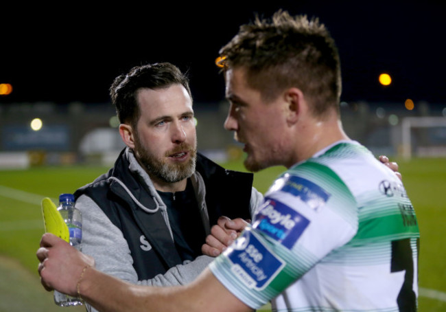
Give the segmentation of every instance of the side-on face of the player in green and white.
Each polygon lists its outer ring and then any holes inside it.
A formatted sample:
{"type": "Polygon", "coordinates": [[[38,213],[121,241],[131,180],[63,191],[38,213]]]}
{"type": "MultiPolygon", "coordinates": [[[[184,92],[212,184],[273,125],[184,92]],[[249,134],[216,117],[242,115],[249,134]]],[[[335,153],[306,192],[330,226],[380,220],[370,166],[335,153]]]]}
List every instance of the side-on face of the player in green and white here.
{"type": "Polygon", "coordinates": [[[256,172],[281,164],[286,140],[280,99],[265,102],[259,90],[248,86],[243,68],[228,69],[225,80],[230,107],[224,127],[244,144],[245,167],[256,172]]]}

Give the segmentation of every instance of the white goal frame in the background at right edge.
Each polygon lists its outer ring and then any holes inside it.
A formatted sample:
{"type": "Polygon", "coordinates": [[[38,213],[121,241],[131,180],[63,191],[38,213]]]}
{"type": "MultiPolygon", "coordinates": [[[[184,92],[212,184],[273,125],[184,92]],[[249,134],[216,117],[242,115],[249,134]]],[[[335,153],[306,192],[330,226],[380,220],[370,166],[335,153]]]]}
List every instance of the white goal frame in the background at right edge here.
{"type": "Polygon", "coordinates": [[[401,121],[401,137],[402,146],[401,152],[405,159],[412,157],[412,130],[416,128],[438,128],[443,127],[445,133],[445,140],[430,146],[431,154],[436,156],[446,156],[446,118],[445,117],[406,117],[401,121]]]}

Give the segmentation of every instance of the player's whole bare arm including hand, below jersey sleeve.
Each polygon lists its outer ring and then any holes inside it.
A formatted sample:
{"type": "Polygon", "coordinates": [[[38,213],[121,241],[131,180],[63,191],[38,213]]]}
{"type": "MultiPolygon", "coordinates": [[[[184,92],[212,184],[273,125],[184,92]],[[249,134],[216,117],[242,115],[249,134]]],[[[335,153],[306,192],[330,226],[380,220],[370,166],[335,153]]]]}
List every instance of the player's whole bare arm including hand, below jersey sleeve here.
{"type": "Polygon", "coordinates": [[[44,234],[37,257],[45,289],[80,296],[99,311],[251,311],[206,269],[185,287],[132,285],[94,268],[93,258],[53,234],[44,234]]]}

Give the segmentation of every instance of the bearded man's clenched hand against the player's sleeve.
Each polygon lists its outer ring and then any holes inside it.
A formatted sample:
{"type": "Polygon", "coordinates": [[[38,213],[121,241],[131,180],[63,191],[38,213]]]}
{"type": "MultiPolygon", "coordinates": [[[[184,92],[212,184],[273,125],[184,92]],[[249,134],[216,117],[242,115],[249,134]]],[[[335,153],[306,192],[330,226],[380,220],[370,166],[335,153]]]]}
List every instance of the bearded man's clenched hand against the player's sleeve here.
{"type": "Polygon", "coordinates": [[[217,225],[213,225],[211,228],[211,234],[207,236],[206,243],[201,247],[202,253],[211,257],[218,256],[233,243],[246,225],[248,222],[243,219],[231,220],[226,216],[220,216],[217,225]]]}

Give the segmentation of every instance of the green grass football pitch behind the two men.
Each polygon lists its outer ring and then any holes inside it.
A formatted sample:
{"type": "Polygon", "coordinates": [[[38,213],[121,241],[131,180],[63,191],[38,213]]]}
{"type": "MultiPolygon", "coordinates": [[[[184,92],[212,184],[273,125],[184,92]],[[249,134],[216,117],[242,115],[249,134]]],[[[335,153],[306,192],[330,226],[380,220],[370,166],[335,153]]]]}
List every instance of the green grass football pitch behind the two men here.
{"type": "MultiPolygon", "coordinates": [[[[419,311],[446,311],[446,159],[392,160],[399,164],[419,220],[419,311]]],[[[244,171],[240,161],[223,166],[244,171]]],[[[84,311],[56,307],[52,294],[40,286],[35,256],[44,232],[40,201],[43,197],[57,201],[60,193],[73,192],[106,170],[92,166],[0,170],[0,311],[84,311]]],[[[265,192],[282,170],[256,173],[256,188],[265,192]]]]}

